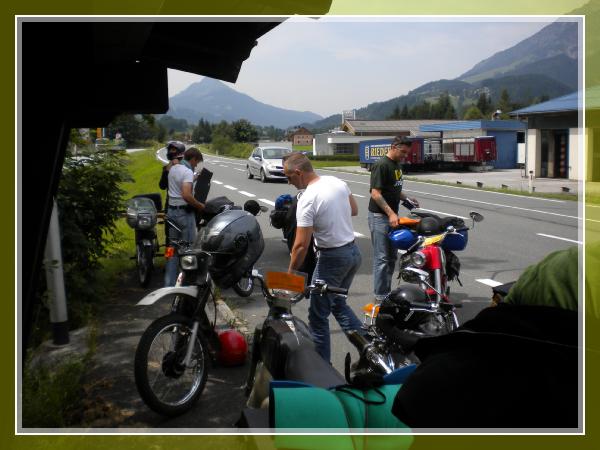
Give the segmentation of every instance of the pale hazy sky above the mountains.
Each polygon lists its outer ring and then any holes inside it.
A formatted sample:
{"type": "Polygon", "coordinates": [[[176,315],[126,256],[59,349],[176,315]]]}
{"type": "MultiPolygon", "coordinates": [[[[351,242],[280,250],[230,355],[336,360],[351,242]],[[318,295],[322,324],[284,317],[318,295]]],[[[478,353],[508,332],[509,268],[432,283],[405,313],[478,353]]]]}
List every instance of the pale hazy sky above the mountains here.
{"type": "MultiPolygon", "coordinates": [[[[327,117],[453,79],[552,18],[290,18],[258,39],[231,88],[327,117]],[[501,21],[502,20],[502,21],[501,21]]],[[[169,70],[169,96],[202,79],[169,70]]]]}

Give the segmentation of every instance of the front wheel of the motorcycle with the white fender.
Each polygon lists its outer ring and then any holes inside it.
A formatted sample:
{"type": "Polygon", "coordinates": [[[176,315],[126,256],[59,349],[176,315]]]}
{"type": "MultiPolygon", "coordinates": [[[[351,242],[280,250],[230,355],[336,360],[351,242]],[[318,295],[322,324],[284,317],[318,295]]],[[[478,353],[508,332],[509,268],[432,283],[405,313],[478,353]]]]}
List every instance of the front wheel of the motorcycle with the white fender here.
{"type": "Polygon", "coordinates": [[[180,314],[156,319],[135,352],[134,375],[140,397],[150,409],[165,416],[178,416],[192,408],[206,385],[210,355],[201,331],[196,335],[191,367],[182,365],[192,322],[180,314]]]}

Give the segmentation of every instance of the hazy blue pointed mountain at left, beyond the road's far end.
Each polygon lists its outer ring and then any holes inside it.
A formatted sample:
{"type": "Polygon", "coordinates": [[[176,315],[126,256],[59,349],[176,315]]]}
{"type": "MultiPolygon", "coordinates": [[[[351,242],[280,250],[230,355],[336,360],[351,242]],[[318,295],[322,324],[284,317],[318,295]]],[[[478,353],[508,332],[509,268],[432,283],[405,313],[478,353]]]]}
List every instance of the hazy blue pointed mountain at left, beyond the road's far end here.
{"type": "Polygon", "coordinates": [[[247,119],[255,125],[288,128],[323,117],[310,111],[293,111],[261,103],[221,81],[203,78],[169,99],[168,115],[196,124],[201,118],[216,123],[247,119]]]}

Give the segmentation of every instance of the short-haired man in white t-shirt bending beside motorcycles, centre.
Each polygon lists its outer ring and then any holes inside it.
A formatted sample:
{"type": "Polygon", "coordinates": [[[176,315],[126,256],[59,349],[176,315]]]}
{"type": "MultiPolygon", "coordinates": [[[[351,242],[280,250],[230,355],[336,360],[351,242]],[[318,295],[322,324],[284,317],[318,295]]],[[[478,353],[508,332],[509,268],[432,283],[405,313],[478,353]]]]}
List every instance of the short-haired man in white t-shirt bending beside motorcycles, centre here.
{"type": "MultiPolygon", "coordinates": [[[[296,239],[289,270],[297,270],[302,265],[311,245],[311,236],[314,236],[317,265],[313,280],[323,280],[331,286],[348,289],[361,263],[352,229],[352,216],[358,214],[356,200],[342,180],[317,175],[302,153],[286,155],[283,162],[288,182],[304,189],[298,199],[296,239]]],[[[331,359],[330,313],[345,332],[360,331],[362,326],[344,296],[311,294],[308,323],[317,352],[327,362],[331,359]]]]}

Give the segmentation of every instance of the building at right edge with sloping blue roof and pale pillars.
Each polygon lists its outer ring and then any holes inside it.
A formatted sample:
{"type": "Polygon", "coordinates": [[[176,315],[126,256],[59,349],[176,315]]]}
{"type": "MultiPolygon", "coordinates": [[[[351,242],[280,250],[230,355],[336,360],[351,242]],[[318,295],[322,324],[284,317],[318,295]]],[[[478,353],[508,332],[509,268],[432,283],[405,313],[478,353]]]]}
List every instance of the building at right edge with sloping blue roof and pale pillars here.
{"type": "Polygon", "coordinates": [[[509,113],[527,124],[525,170],[534,177],[581,179],[583,97],[573,92],[509,113]]]}

